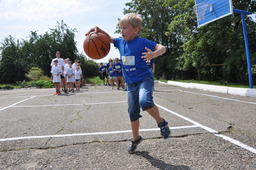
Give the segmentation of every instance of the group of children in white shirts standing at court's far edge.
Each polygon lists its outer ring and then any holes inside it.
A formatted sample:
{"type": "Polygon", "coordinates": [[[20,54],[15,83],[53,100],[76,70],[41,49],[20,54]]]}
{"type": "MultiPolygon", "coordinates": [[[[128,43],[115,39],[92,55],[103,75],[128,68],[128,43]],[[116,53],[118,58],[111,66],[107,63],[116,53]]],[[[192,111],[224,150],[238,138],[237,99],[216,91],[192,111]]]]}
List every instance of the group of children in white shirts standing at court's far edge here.
{"type": "Polygon", "coordinates": [[[74,92],[74,87],[80,91],[82,69],[80,61],[72,63],[69,58],[65,60],[60,57],[60,51],[56,52],[56,58],[51,62],[51,79],[55,86],[56,95],[61,94],[61,88],[64,93],[74,92]]]}

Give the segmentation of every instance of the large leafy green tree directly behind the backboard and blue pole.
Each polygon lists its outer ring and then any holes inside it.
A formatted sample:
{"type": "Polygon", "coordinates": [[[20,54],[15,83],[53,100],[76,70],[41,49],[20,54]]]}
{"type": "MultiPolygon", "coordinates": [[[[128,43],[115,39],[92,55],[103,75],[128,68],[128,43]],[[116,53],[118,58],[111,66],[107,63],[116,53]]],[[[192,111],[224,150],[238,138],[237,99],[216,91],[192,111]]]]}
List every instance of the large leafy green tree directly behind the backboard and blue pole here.
{"type": "MultiPolygon", "coordinates": [[[[178,78],[246,82],[243,32],[238,14],[195,29],[193,0],[167,0],[166,4],[177,11],[167,34],[175,34],[179,42],[174,51],[178,78]]],[[[234,2],[234,6],[242,10],[251,10],[252,6],[248,4],[234,2]]],[[[248,30],[249,37],[252,37],[252,29],[249,27],[248,30]]]]}

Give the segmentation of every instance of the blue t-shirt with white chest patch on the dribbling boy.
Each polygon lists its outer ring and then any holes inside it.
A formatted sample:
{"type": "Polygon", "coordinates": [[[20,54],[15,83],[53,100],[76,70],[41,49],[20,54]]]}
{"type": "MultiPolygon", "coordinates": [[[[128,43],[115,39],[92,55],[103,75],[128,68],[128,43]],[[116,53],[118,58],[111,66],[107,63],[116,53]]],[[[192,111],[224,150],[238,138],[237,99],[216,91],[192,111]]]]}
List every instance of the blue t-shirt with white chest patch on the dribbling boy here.
{"type": "Polygon", "coordinates": [[[147,52],[145,47],[154,51],[156,45],[155,42],[140,37],[131,41],[114,38],[114,46],[119,49],[123,64],[123,76],[127,84],[134,84],[146,77],[153,77],[146,61],[141,57],[143,52],[147,52]]]}

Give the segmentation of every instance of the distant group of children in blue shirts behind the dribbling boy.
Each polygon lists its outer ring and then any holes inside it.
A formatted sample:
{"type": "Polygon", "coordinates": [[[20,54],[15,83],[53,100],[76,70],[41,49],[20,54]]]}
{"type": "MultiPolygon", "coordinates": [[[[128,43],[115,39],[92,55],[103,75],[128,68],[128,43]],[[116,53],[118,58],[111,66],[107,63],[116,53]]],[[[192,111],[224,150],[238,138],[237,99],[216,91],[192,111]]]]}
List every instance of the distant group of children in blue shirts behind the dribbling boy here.
{"type": "Polygon", "coordinates": [[[114,86],[117,86],[118,90],[120,88],[125,89],[122,62],[119,58],[116,58],[115,62],[110,58],[106,66],[100,63],[98,71],[101,74],[101,79],[105,86],[111,85],[111,89],[114,89],[114,86]]]}

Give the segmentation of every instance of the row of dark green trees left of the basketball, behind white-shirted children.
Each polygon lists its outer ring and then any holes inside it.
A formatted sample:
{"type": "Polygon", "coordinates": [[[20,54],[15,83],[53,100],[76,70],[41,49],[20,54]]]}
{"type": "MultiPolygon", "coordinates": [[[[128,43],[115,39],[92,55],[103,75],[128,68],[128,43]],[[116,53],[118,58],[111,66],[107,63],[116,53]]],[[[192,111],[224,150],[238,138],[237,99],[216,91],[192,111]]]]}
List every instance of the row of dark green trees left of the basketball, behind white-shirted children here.
{"type": "Polygon", "coordinates": [[[28,80],[26,75],[32,67],[40,68],[45,76],[50,77],[50,63],[56,51],[61,51],[64,59],[80,60],[85,77],[97,76],[97,63],[78,53],[75,32],[76,29],[61,21],[43,35],[31,31],[28,40],[15,40],[12,36],[5,38],[0,47],[0,83],[28,80]]]}

